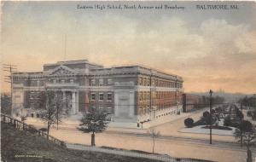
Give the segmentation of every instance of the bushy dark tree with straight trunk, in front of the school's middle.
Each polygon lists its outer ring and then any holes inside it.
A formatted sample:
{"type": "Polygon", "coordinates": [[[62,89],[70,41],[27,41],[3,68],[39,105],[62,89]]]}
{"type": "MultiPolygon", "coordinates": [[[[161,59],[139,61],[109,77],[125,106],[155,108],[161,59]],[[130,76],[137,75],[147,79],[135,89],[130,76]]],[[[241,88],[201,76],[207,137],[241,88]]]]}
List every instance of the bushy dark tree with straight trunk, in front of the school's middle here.
{"type": "Polygon", "coordinates": [[[83,118],[80,120],[79,130],[91,134],[91,146],[95,146],[95,133],[102,132],[108,126],[107,120],[108,113],[96,107],[90,107],[87,113],[84,113],[83,118]]]}

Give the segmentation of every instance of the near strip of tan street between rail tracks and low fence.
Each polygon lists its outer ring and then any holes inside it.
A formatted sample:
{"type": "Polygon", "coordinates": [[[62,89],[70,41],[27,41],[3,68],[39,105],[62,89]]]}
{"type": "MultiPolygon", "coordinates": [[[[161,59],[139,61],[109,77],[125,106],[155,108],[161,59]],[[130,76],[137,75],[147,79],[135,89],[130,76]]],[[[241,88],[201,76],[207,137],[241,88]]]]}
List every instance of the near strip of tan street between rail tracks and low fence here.
{"type": "MultiPolygon", "coordinates": [[[[52,130],[51,135],[73,143],[90,145],[90,134],[70,130],[52,130]]],[[[137,149],[152,151],[152,139],[148,136],[127,136],[100,133],[96,134],[96,146],[114,148],[137,149]]],[[[245,150],[232,148],[229,144],[219,145],[213,142],[213,147],[207,142],[188,142],[183,139],[157,138],[155,142],[156,153],[167,153],[172,157],[212,159],[214,161],[241,162],[245,161],[245,150]]],[[[255,153],[253,153],[254,155],[255,153]]]]}

